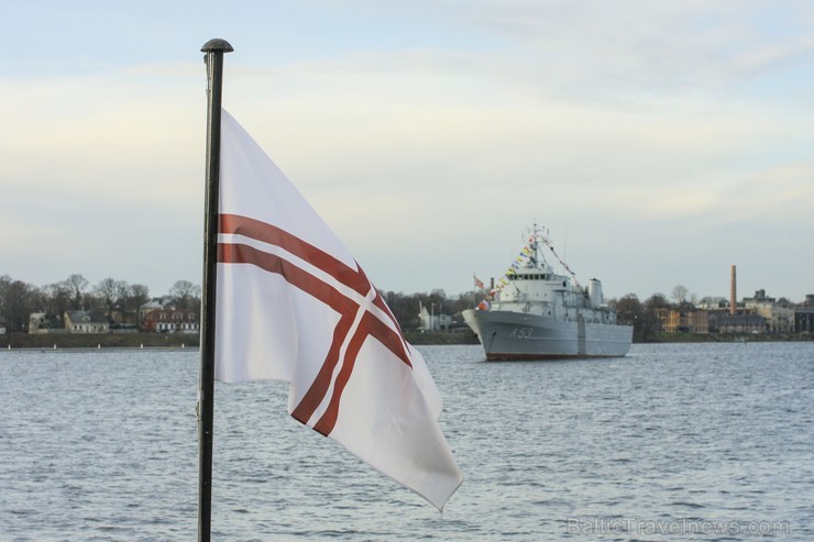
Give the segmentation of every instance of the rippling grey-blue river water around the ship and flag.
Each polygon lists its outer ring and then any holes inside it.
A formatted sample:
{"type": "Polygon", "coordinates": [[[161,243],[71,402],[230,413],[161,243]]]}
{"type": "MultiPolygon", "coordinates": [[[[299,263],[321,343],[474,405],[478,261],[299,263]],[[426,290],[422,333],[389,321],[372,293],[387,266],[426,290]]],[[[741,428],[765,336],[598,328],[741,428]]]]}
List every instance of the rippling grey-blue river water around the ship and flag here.
{"type": "MultiPolygon", "coordinates": [[[[420,347],[465,479],[443,513],[218,385],[213,539],[814,540],[814,343],[485,363],[420,347]]],[[[0,541],[186,541],[196,352],[0,352],[0,541]]]]}

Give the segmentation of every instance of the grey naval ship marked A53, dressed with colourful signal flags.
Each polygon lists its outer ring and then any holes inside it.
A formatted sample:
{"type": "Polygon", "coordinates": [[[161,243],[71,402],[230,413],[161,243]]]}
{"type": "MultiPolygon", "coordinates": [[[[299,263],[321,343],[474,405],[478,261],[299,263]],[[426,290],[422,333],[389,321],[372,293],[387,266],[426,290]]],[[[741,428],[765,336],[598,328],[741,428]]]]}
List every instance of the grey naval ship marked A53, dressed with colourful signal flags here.
{"type": "MultiPolygon", "coordinates": [[[[526,246],[475,309],[463,311],[486,358],[561,360],[619,357],[627,354],[632,327],[616,323],[616,311],[603,303],[602,283],[579,284],[557,255],[551,240],[534,226],[526,246]],[[547,250],[543,250],[543,246],[547,250]],[[570,275],[558,275],[549,253],[570,275]]],[[[477,281],[477,279],[475,279],[477,281]]]]}

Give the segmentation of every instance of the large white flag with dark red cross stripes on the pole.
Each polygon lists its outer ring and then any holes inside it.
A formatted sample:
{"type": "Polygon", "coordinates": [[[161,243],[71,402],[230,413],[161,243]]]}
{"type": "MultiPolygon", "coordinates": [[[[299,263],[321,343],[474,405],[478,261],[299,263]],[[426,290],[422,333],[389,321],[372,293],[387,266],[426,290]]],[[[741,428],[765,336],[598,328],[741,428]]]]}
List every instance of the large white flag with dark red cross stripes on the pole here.
{"type": "Polygon", "coordinates": [[[439,510],[462,482],[421,355],[342,243],[222,112],[216,379],[287,380],[288,412],[439,510]]]}

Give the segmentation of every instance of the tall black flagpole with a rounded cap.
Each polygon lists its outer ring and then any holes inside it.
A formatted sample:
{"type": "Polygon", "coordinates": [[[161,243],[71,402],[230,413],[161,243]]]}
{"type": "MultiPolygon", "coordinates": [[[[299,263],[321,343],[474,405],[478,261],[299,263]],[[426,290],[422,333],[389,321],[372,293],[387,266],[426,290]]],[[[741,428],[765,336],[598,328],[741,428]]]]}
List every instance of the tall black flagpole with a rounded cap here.
{"type": "Polygon", "coordinates": [[[207,64],[207,177],[204,219],[204,295],[201,297],[200,384],[198,388],[198,541],[209,542],[212,523],[212,429],[215,418],[215,295],[218,265],[220,188],[220,111],[226,40],[209,40],[200,49],[207,64]]]}

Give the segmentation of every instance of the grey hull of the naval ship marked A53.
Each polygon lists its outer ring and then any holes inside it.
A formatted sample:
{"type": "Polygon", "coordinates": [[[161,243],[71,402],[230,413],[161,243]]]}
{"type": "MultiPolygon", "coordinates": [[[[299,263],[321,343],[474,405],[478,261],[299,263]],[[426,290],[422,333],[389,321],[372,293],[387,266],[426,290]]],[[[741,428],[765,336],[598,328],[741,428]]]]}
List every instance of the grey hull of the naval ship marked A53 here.
{"type": "Polygon", "coordinates": [[[490,361],[620,357],[632,341],[630,325],[487,310],[466,310],[463,318],[490,361]]]}

